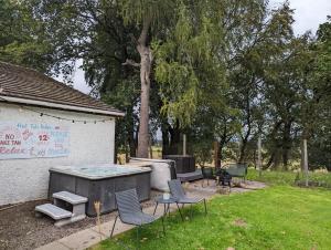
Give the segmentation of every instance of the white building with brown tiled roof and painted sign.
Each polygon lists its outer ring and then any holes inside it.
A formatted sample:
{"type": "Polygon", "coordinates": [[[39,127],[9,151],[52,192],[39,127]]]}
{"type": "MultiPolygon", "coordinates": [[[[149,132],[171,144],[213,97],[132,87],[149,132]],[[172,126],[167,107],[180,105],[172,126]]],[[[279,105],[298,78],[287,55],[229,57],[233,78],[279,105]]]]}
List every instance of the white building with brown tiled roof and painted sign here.
{"type": "Polygon", "coordinates": [[[118,116],[42,73],[0,62],[0,206],[46,198],[53,166],[114,163],[118,116]]]}

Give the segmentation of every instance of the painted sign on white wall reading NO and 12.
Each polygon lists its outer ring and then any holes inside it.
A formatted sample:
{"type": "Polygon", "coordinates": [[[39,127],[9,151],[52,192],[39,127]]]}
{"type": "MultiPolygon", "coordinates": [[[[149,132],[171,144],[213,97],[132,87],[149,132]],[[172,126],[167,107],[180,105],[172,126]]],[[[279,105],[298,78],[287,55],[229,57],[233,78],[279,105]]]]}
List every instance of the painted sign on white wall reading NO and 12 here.
{"type": "Polygon", "coordinates": [[[67,126],[0,122],[0,159],[63,157],[68,154],[67,126]]]}

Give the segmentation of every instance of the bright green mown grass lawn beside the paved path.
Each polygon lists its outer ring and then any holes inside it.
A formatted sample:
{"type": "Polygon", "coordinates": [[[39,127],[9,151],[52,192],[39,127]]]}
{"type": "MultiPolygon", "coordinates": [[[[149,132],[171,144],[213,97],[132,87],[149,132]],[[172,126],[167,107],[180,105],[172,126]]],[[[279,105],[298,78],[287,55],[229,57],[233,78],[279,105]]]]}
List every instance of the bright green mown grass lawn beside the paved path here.
{"type": "MultiPolygon", "coordinates": [[[[158,237],[160,221],[146,227],[140,249],[330,249],[331,191],[291,186],[229,196],[209,202],[209,215],[195,208],[192,220],[178,213],[166,219],[167,236],[158,237]]],[[[185,211],[188,212],[188,211],[185,211]]],[[[189,213],[188,213],[189,215],[189,213]]],[[[132,249],[136,230],[93,249],[132,249]]]]}

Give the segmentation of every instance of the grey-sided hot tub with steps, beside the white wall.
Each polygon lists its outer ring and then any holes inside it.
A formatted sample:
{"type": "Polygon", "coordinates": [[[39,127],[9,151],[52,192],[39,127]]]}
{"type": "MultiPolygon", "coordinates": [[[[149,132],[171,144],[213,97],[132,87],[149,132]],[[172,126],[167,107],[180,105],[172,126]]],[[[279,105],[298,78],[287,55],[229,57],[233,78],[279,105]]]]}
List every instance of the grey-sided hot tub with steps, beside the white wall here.
{"type": "Polygon", "coordinates": [[[102,202],[102,213],[107,213],[116,209],[116,191],[136,188],[140,201],[149,199],[150,171],[149,167],[115,164],[52,167],[49,198],[57,191],[71,191],[88,198],[88,216],[96,216],[97,200],[102,202]]]}

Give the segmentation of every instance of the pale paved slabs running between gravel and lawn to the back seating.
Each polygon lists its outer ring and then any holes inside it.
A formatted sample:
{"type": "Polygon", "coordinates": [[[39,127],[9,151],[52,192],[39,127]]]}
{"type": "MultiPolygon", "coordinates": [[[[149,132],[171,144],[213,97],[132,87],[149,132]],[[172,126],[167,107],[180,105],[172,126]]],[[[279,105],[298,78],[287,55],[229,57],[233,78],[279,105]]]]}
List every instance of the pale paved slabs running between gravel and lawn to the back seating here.
{"type": "MultiPolygon", "coordinates": [[[[266,185],[257,181],[246,181],[245,184],[242,183],[239,186],[242,187],[233,187],[231,189],[232,192],[244,192],[244,191],[250,191],[254,189],[260,189],[266,187],[266,185]]],[[[211,180],[209,181],[209,185],[206,185],[206,181],[194,181],[191,184],[184,185],[189,196],[194,196],[194,197],[206,197],[212,198],[215,194],[221,192],[223,188],[220,188],[218,186],[215,185],[215,181],[211,180]]],[[[154,205],[151,205],[147,208],[143,209],[145,212],[147,213],[152,213],[154,209],[154,205]]],[[[171,211],[174,211],[177,208],[175,206],[171,207],[171,211]]],[[[160,217],[163,215],[163,207],[159,206],[157,209],[156,215],[160,217]]],[[[110,236],[110,230],[114,223],[115,217],[111,217],[111,219],[102,225],[102,230],[100,233],[98,232],[97,227],[90,227],[88,229],[84,229],[82,231],[78,231],[76,233],[73,233],[71,236],[67,236],[65,238],[55,240],[49,244],[45,244],[43,247],[38,248],[38,250],[53,250],[53,249],[58,249],[58,250],[70,250],[70,249],[75,249],[75,250],[81,250],[81,249],[86,249],[88,247],[92,247],[99,241],[108,238],[110,236]]],[[[127,231],[129,229],[134,228],[132,226],[127,226],[121,223],[119,220],[116,223],[114,235],[121,233],[124,231],[127,231]]]]}

